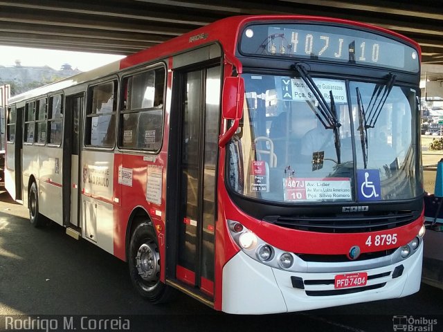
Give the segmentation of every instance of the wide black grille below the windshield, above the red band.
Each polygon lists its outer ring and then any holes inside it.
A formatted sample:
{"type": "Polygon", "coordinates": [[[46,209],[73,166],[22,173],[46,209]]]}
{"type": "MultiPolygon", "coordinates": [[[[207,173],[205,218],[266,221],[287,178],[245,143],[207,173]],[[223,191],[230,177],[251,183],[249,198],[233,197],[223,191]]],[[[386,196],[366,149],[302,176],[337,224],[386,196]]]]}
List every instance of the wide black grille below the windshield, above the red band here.
{"type": "Polygon", "coordinates": [[[264,221],[285,228],[324,233],[374,232],[397,228],[419,218],[419,212],[397,211],[362,214],[303,214],[298,216],[266,216],[264,221]]]}

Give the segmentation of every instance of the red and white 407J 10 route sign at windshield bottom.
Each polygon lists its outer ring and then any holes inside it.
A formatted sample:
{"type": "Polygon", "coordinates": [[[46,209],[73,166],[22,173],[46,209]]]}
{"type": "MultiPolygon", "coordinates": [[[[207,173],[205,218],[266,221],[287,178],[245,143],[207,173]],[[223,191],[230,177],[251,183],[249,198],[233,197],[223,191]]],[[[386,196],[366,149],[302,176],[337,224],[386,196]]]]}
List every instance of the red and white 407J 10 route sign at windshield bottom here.
{"type": "Polygon", "coordinates": [[[350,178],[283,178],[284,201],[350,201],[350,178]]]}

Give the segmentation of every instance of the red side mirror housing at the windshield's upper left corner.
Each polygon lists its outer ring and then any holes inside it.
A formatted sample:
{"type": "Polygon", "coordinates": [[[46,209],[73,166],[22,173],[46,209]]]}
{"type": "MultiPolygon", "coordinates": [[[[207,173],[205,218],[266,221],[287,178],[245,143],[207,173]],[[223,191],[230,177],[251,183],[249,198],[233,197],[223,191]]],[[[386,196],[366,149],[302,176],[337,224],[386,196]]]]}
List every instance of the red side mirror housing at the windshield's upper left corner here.
{"type": "Polygon", "coordinates": [[[223,84],[221,109],[226,120],[241,119],[243,116],[244,80],[243,77],[226,77],[223,84]]]}

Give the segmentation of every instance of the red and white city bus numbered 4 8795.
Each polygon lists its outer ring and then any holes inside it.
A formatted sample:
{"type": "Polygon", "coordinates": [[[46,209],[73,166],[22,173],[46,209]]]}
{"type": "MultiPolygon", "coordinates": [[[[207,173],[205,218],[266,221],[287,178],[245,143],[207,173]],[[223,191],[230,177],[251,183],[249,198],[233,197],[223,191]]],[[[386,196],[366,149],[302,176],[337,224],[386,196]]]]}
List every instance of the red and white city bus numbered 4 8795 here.
{"type": "Polygon", "coordinates": [[[282,313],[419,290],[420,49],[230,17],[10,99],[6,187],[143,297],[282,313]]]}

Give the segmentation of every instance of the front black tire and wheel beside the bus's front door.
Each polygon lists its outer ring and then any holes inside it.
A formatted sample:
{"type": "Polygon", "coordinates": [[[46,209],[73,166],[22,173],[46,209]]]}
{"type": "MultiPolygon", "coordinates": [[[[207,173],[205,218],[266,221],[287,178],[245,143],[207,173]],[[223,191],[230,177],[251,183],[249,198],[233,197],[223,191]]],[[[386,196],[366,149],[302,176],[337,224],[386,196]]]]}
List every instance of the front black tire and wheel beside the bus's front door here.
{"type": "Polygon", "coordinates": [[[153,303],[168,302],[173,289],[160,281],[159,243],[152,223],[143,221],[129,243],[129,275],[136,291],[153,303]]]}

